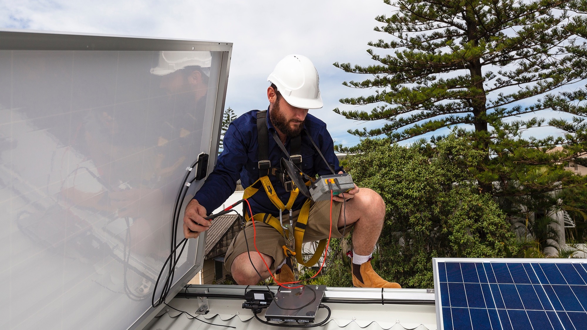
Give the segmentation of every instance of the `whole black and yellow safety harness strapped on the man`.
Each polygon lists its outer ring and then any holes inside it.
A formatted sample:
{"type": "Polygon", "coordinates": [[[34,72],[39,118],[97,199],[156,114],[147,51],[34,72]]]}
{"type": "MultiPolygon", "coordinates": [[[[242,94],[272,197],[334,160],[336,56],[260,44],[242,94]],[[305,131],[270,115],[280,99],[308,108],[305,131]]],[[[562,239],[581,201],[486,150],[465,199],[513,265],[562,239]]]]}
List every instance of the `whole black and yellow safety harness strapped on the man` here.
{"type": "MultiPolygon", "coordinates": [[[[288,163],[285,159],[282,159],[281,168],[272,167],[271,161],[269,161],[269,130],[267,129],[266,116],[267,110],[257,112],[259,179],[257,179],[257,181],[255,181],[253,184],[251,184],[251,186],[245,189],[243,198],[247,199],[253,196],[255,193],[257,193],[257,191],[263,189],[269,197],[269,200],[271,200],[271,203],[273,203],[274,206],[278,208],[280,214],[284,211],[289,210],[289,219],[291,221],[291,208],[294,205],[294,202],[298,197],[298,194],[302,193],[304,196],[306,196],[306,201],[303,203],[303,206],[299,211],[298,221],[296,222],[295,227],[293,228],[295,244],[294,251],[292,251],[291,248],[288,248],[286,245],[283,246],[283,250],[286,257],[291,258],[295,256],[299,264],[302,264],[306,267],[311,267],[315,265],[316,262],[318,262],[318,260],[320,259],[324,251],[324,248],[326,247],[326,241],[328,240],[326,238],[321,240],[318,243],[318,247],[316,248],[316,251],[314,252],[312,257],[308,261],[303,260],[303,235],[306,231],[306,225],[308,224],[308,215],[310,213],[310,206],[312,201],[311,198],[309,198],[310,196],[307,187],[310,186],[313,180],[311,177],[308,177],[298,168],[298,165],[302,163],[302,156],[300,153],[302,137],[300,134],[296,137],[292,137],[292,139],[290,140],[290,150],[292,151],[292,155],[290,156],[287,150],[285,149],[284,144],[277,136],[277,134],[275,132],[272,132],[272,137],[275,139],[275,142],[278,144],[280,149],[284,151],[285,155],[288,156],[288,159],[291,162],[288,163]],[[292,166],[292,164],[295,166],[292,166]],[[294,174],[294,171],[297,171],[299,173],[299,176],[297,175],[298,173],[294,174]],[[286,204],[284,204],[275,193],[275,188],[271,184],[271,180],[269,180],[270,175],[278,177],[282,184],[284,184],[285,190],[289,191],[289,199],[286,204]],[[303,179],[301,179],[302,177],[307,179],[307,181],[304,182],[303,179]]],[[[334,170],[332,169],[332,167],[330,167],[330,165],[322,155],[320,149],[318,149],[318,146],[316,146],[316,144],[313,142],[310,134],[308,134],[306,130],[304,130],[303,132],[305,132],[305,134],[308,135],[313,146],[316,148],[316,150],[318,150],[318,153],[320,154],[320,156],[322,156],[322,159],[326,162],[328,168],[332,171],[332,173],[334,173],[334,170]]],[[[247,221],[251,220],[248,214],[245,214],[245,218],[247,221]]],[[[286,239],[286,241],[289,241],[289,235],[291,235],[291,232],[288,230],[284,230],[282,222],[278,218],[274,217],[272,214],[257,213],[254,214],[252,218],[255,221],[262,221],[266,224],[271,225],[271,227],[274,227],[275,230],[279,231],[279,234],[281,234],[286,239]]],[[[287,226],[285,226],[285,228],[287,228],[287,226]]]]}

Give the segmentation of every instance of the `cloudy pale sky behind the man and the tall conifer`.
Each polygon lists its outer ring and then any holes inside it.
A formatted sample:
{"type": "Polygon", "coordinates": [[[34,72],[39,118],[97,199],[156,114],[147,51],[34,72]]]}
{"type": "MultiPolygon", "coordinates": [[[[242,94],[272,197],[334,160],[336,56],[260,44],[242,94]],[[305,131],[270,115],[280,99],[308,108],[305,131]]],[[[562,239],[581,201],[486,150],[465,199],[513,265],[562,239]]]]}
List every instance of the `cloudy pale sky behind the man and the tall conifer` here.
{"type": "MultiPolygon", "coordinates": [[[[292,53],[308,56],[318,70],[324,101],[322,109],[310,113],[326,122],[336,144],[353,146],[359,138],[347,130],[382,123],[357,122],[332,112],[337,107],[370,110],[343,105],[339,99],[373,93],[342,86],[368,76],[345,73],[333,63],[375,63],[366,52],[367,42],[389,40],[386,33],[373,31],[381,25],[375,17],[393,10],[382,0],[0,0],[0,28],[232,42],[225,108],[237,115],[266,108],[266,78],[280,59],[292,53]]],[[[561,133],[552,127],[534,132],[561,133]]],[[[446,133],[448,129],[423,137],[446,133]]]]}

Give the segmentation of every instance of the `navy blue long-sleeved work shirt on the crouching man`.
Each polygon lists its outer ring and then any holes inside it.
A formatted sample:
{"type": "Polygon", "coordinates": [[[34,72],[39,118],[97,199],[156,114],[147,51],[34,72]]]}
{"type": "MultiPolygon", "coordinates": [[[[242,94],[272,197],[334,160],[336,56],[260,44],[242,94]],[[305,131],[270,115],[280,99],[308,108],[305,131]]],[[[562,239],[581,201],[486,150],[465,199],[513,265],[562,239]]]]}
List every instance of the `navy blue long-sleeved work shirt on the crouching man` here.
{"type": "MultiPolygon", "coordinates": [[[[222,140],[224,150],[218,156],[217,165],[194,196],[194,199],[198,200],[206,208],[208,214],[220,207],[234,192],[238,179],[241,179],[241,184],[245,188],[251,186],[251,184],[259,179],[257,163],[257,112],[258,110],[251,110],[239,116],[228,126],[224,134],[224,139],[222,140]]],[[[272,167],[281,167],[281,159],[287,158],[287,156],[271,136],[271,132],[275,131],[275,127],[269,118],[269,111],[266,119],[269,130],[269,160],[271,161],[272,167]]],[[[311,134],[312,139],[320,148],[328,163],[334,165],[335,173],[342,171],[342,167],[340,167],[338,158],[334,153],[332,137],[330,137],[328,130],[326,130],[326,124],[308,113],[304,121],[304,126],[308,130],[308,133],[311,134]]],[[[291,152],[290,140],[288,137],[285,142],[285,148],[288,150],[288,153],[291,152]]],[[[318,151],[315,150],[308,136],[304,133],[302,133],[300,153],[302,154],[301,169],[308,176],[314,177],[316,174],[332,174],[322,160],[322,157],[320,157],[320,154],[318,154],[318,151]]],[[[277,196],[286,204],[290,193],[285,191],[284,186],[277,177],[270,175],[269,179],[275,188],[277,196]]],[[[305,198],[302,194],[299,194],[292,210],[295,211],[302,208],[305,198]]],[[[275,217],[279,215],[278,208],[271,203],[263,188],[259,189],[248,201],[251,203],[253,214],[271,213],[275,217]]]]}

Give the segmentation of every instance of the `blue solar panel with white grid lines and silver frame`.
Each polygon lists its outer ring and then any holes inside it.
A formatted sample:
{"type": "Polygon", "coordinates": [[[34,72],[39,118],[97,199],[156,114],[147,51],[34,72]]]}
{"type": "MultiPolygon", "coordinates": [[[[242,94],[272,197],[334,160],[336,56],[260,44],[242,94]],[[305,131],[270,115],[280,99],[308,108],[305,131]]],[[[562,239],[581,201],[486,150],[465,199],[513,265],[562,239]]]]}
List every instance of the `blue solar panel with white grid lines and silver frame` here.
{"type": "Polygon", "coordinates": [[[438,330],[587,330],[587,260],[433,258],[438,330]]]}

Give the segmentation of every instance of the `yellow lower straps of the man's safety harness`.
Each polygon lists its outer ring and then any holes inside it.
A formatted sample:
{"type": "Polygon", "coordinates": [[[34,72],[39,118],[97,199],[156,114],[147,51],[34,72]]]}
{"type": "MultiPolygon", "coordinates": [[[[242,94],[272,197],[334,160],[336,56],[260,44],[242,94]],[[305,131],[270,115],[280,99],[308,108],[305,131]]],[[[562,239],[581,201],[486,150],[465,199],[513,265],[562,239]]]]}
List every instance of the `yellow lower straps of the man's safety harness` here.
{"type": "MultiPolygon", "coordinates": [[[[310,181],[308,181],[308,183],[306,183],[306,186],[308,186],[309,184],[310,184],[310,181]]],[[[255,183],[253,183],[253,184],[251,184],[251,186],[247,187],[243,193],[242,198],[247,199],[247,198],[253,196],[254,194],[257,193],[257,191],[259,191],[259,189],[261,189],[261,186],[264,188],[265,193],[269,197],[269,200],[271,200],[271,203],[273,203],[275,205],[275,207],[281,211],[291,210],[291,207],[294,205],[294,201],[298,197],[298,193],[299,193],[298,187],[296,187],[294,190],[292,190],[289,195],[288,203],[284,205],[284,203],[279,199],[279,197],[275,193],[275,188],[271,184],[269,177],[264,176],[264,177],[260,177],[257,181],[255,181],[255,183]]],[[[306,200],[305,203],[303,203],[302,209],[299,211],[298,221],[296,222],[296,225],[294,228],[295,257],[296,257],[296,260],[298,260],[299,264],[302,264],[306,267],[312,267],[313,265],[316,264],[316,262],[318,262],[318,260],[320,260],[320,256],[324,252],[324,248],[326,247],[326,242],[328,241],[326,239],[321,240],[318,243],[318,247],[316,248],[316,251],[314,252],[312,257],[308,261],[303,260],[303,256],[302,256],[303,234],[305,233],[306,225],[308,224],[308,216],[310,214],[310,204],[311,204],[311,200],[309,200],[309,199],[306,200]]],[[[266,224],[271,225],[271,227],[274,227],[277,231],[279,231],[279,234],[281,234],[283,237],[287,237],[287,235],[288,235],[288,233],[286,233],[286,232],[284,233],[284,229],[281,227],[281,223],[279,223],[279,219],[269,213],[254,214],[253,219],[255,221],[262,221],[266,224]]],[[[245,213],[245,220],[247,220],[247,221],[251,220],[251,218],[246,213],[245,213]]]]}

